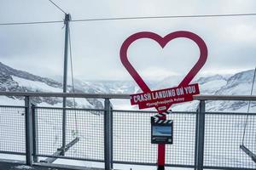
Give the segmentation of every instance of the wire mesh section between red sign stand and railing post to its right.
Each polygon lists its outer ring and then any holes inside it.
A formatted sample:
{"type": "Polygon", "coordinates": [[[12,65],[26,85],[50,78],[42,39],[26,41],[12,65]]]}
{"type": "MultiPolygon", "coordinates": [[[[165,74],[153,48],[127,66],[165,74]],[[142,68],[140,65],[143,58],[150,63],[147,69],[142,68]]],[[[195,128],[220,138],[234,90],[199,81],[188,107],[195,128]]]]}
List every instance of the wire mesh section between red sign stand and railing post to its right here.
{"type": "Polygon", "coordinates": [[[173,144],[166,145],[166,164],[194,166],[196,114],[173,112],[167,119],[173,120],[173,144]]]}

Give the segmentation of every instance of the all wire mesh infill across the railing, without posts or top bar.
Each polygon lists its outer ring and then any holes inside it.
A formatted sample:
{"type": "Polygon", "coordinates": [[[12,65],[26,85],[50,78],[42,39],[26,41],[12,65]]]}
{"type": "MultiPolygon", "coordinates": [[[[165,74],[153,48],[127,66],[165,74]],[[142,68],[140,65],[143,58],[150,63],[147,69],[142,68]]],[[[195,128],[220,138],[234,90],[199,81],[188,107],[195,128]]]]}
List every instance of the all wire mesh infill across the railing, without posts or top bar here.
{"type": "MultiPolygon", "coordinates": [[[[62,108],[34,107],[38,156],[53,156],[61,148],[63,111],[62,108]]],[[[104,161],[105,111],[65,111],[66,144],[79,138],[65,157],[104,161]]],[[[25,107],[0,106],[0,152],[26,154],[25,114],[25,107]]],[[[114,163],[156,164],[157,144],[151,144],[150,124],[150,117],[155,114],[153,111],[113,111],[114,163]]],[[[240,149],[244,144],[256,154],[256,113],[205,114],[204,167],[256,169],[256,163],[240,149]]],[[[196,112],[173,112],[167,119],[174,123],[173,144],[166,145],[166,166],[195,167],[196,112]]]]}

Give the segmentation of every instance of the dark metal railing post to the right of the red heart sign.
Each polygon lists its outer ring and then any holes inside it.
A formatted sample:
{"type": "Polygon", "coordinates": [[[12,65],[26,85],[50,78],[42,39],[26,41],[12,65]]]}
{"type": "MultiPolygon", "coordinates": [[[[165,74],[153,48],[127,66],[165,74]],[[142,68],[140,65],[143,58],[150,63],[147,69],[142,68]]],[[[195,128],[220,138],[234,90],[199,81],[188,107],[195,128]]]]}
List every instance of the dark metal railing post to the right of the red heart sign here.
{"type": "Polygon", "coordinates": [[[203,170],[204,162],[204,141],[205,141],[205,112],[206,112],[206,102],[205,100],[200,100],[199,108],[197,111],[197,139],[196,139],[196,156],[195,156],[195,167],[197,170],[203,170]]]}

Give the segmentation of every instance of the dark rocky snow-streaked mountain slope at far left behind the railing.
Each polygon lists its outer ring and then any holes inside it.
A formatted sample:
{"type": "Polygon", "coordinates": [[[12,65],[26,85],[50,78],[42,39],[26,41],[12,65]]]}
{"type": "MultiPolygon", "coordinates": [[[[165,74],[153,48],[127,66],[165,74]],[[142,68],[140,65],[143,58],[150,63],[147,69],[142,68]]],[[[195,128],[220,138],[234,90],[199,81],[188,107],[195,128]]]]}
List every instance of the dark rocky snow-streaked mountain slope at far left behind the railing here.
{"type": "MultiPolygon", "coordinates": [[[[67,91],[72,87],[68,86],[67,91]]],[[[15,70],[0,62],[0,90],[12,92],[62,92],[62,84],[52,79],[38,77],[26,71],[15,70]]],[[[82,92],[75,89],[76,92],[82,92]]],[[[61,98],[33,97],[32,102],[41,106],[61,106],[61,98]]],[[[1,105],[24,105],[22,97],[0,96],[1,105]]],[[[76,105],[86,108],[102,108],[102,102],[97,99],[76,99],[76,105]]],[[[67,99],[67,106],[73,106],[73,100],[67,99]]]]}

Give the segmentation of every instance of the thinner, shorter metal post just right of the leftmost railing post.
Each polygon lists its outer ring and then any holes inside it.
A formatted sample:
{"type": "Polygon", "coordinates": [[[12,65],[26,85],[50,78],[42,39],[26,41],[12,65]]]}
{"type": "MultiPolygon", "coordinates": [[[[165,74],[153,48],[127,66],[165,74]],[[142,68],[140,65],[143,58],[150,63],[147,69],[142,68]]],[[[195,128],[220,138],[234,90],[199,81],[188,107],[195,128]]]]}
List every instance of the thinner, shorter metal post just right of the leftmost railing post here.
{"type": "Polygon", "coordinates": [[[38,113],[32,104],[33,161],[38,162],[38,113]]]}

